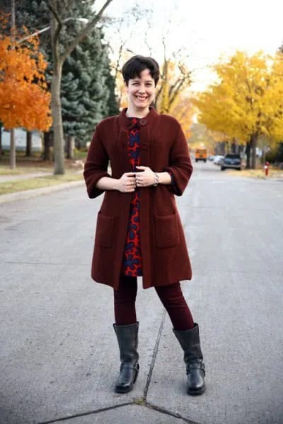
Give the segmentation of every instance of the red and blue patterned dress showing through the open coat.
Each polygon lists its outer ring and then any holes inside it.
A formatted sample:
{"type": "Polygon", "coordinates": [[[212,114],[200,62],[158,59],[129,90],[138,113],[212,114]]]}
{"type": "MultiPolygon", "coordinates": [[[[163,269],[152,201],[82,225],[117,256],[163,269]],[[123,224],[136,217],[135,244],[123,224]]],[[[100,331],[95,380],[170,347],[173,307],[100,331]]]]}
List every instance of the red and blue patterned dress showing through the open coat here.
{"type": "MultiPolygon", "coordinates": [[[[132,171],[136,171],[139,166],[140,158],[140,138],[139,138],[139,118],[129,118],[131,126],[128,129],[128,154],[129,163],[132,171]]],[[[142,276],[141,260],[141,237],[139,232],[139,211],[141,207],[139,189],[132,193],[132,201],[129,208],[129,223],[127,229],[127,238],[125,243],[125,252],[122,262],[122,273],[129,277],[142,276]]]]}

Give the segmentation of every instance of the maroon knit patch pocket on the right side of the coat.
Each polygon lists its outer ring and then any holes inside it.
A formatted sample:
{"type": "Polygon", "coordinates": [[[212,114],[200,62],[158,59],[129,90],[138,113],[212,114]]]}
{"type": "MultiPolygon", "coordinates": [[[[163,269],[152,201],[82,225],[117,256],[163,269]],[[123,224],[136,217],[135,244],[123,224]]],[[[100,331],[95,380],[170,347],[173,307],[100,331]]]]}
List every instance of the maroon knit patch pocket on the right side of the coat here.
{"type": "Polygon", "coordinates": [[[171,247],[178,243],[177,216],[155,216],[155,240],[157,247],[171,247]]]}

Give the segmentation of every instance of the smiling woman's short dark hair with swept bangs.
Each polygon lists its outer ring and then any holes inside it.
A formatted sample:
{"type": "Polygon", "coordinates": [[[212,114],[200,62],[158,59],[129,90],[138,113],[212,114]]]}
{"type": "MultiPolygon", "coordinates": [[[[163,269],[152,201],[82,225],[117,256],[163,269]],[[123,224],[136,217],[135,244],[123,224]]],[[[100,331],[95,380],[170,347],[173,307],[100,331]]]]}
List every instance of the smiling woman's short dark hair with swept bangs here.
{"type": "Polygon", "coordinates": [[[154,78],[154,83],[156,85],[159,79],[159,65],[157,61],[152,57],[140,56],[139,54],[127,60],[122,67],[122,75],[125,83],[128,85],[129,79],[140,78],[141,72],[144,71],[144,69],[149,69],[149,73],[151,77],[154,78]]]}

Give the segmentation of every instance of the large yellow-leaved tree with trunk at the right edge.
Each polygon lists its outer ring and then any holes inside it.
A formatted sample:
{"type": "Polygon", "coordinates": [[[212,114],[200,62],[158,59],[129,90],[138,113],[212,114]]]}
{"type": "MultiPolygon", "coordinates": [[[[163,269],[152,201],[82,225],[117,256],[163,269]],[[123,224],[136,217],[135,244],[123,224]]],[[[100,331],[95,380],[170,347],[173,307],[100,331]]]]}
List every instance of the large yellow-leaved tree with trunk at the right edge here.
{"type": "Polygon", "coordinates": [[[219,81],[195,100],[200,122],[246,142],[247,167],[251,148],[251,167],[255,168],[258,137],[282,136],[282,78],[278,78],[280,72],[282,75],[282,56],[275,60],[262,52],[251,57],[236,52],[215,70],[219,81]]]}

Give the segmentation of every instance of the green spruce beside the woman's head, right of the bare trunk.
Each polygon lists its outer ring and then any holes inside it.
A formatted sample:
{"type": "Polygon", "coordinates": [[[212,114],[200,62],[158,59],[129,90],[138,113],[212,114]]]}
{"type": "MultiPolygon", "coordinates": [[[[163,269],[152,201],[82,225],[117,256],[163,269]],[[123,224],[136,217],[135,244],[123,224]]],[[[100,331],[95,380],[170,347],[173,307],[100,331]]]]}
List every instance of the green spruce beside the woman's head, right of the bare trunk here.
{"type": "Polygon", "coordinates": [[[102,40],[101,30],[94,28],[67,58],[62,71],[64,134],[84,143],[103,117],[118,112],[108,47],[102,40]]]}

